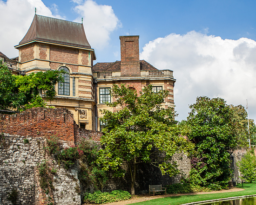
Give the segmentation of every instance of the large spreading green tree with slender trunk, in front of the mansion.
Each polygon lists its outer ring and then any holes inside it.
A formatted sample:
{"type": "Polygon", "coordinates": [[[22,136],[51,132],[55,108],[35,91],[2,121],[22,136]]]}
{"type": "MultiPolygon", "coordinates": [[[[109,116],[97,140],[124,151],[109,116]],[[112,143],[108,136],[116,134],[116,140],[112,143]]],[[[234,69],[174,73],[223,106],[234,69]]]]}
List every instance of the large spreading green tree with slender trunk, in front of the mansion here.
{"type": "Polygon", "coordinates": [[[172,157],[192,146],[178,135],[174,109],[162,108],[168,91],[154,93],[149,85],[138,96],[135,90],[121,84],[121,87],[113,85],[110,93],[114,102],[106,104],[116,111],[103,110],[104,117],[101,118],[105,128],[99,162],[104,169],[112,169],[121,177],[126,172],[122,164],[127,164],[133,195],[139,163],[151,163],[159,167],[162,174],[173,176],[179,173],[172,157]]]}

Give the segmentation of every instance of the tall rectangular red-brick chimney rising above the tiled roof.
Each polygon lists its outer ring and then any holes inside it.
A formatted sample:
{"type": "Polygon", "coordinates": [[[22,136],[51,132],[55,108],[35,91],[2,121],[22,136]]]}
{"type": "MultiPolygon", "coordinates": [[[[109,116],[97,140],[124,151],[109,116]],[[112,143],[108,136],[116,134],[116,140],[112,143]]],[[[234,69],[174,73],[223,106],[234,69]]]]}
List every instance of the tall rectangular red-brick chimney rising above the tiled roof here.
{"type": "Polygon", "coordinates": [[[121,77],[140,77],[139,36],[120,36],[121,77]]]}

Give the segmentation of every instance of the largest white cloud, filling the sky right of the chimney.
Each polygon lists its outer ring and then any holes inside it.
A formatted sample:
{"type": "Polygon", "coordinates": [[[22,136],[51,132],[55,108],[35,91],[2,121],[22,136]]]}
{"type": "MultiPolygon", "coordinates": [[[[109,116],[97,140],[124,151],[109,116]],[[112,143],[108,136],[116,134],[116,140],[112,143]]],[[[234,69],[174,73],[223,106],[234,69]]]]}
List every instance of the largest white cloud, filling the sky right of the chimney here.
{"type": "Polygon", "coordinates": [[[222,97],[228,104],[249,103],[256,119],[256,42],[207,36],[200,32],[172,33],[143,47],[141,59],[156,68],[174,70],[178,120],[186,119],[197,96],[222,97]]]}

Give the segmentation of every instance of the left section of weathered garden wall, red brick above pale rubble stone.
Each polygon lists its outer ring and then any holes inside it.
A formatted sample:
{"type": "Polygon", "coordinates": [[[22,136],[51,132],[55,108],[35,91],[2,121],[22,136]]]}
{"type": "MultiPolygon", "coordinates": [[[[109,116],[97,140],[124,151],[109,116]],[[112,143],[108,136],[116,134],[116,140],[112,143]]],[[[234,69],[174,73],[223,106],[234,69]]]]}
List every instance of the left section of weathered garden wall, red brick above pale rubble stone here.
{"type": "Polygon", "coordinates": [[[67,109],[28,109],[14,115],[0,114],[0,205],[11,205],[8,193],[18,191],[20,205],[79,205],[78,168],[66,170],[48,156],[46,138],[59,136],[62,147],[81,138],[99,141],[101,133],[80,129],[67,109]],[[94,137],[95,135],[95,137],[94,137]],[[28,143],[25,143],[25,141],[28,143]],[[40,188],[37,165],[44,160],[57,170],[52,174],[54,190],[46,194],[40,188]]]}

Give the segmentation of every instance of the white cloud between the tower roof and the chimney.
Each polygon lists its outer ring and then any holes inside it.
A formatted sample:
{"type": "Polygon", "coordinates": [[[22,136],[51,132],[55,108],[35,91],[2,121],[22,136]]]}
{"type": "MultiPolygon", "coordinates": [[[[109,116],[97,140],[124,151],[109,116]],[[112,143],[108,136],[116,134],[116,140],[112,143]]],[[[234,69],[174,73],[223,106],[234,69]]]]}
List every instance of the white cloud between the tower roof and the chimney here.
{"type": "Polygon", "coordinates": [[[94,49],[103,49],[108,45],[110,33],[121,26],[120,20],[115,16],[112,6],[98,5],[93,0],[73,0],[78,4],[74,11],[79,17],[74,21],[83,25],[89,44],[94,49]]]}

